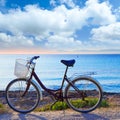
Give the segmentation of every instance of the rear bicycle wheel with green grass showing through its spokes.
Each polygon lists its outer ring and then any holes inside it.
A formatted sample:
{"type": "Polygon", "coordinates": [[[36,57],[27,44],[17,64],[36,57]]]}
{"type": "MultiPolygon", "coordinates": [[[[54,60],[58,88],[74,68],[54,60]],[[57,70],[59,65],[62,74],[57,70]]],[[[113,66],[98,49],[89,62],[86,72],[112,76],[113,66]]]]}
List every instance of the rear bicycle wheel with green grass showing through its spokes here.
{"type": "Polygon", "coordinates": [[[96,109],[102,100],[100,85],[89,77],[80,77],[65,89],[68,106],[77,112],[87,113],[96,109]]]}

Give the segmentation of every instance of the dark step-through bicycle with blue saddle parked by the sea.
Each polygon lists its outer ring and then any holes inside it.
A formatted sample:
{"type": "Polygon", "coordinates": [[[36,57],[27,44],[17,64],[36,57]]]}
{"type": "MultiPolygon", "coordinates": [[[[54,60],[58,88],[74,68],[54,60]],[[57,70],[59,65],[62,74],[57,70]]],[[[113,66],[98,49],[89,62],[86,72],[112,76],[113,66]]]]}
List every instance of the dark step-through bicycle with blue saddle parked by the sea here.
{"type": "Polygon", "coordinates": [[[25,73],[22,76],[23,78],[12,80],[6,87],[6,100],[10,108],[20,113],[33,111],[42,100],[43,90],[52,95],[56,101],[63,102],[66,100],[67,105],[77,112],[87,113],[100,105],[102,88],[96,80],[90,76],[81,75],[73,80],[67,77],[68,68],[73,67],[75,63],[74,59],[61,60],[66,69],[60,88],[53,90],[48,89],[35,73],[35,60],[38,58],[39,56],[34,56],[29,61],[26,61],[25,65],[19,64],[19,68],[22,66],[25,70],[15,74],[21,77],[20,75],[25,73]],[[66,87],[64,87],[65,82],[67,82],[66,87]]]}

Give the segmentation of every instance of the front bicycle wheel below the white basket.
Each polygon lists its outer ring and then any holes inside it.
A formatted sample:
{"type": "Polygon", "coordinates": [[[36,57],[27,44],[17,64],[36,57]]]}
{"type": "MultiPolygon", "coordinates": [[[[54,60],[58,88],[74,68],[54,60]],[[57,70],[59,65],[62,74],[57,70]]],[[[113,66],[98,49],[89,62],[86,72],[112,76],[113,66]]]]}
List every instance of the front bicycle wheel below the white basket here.
{"type": "Polygon", "coordinates": [[[28,113],[34,110],[40,100],[40,93],[34,83],[30,83],[28,91],[25,93],[28,83],[26,79],[15,79],[6,88],[6,100],[8,105],[20,113],[28,113]],[[25,93],[25,95],[23,95],[25,93]]]}

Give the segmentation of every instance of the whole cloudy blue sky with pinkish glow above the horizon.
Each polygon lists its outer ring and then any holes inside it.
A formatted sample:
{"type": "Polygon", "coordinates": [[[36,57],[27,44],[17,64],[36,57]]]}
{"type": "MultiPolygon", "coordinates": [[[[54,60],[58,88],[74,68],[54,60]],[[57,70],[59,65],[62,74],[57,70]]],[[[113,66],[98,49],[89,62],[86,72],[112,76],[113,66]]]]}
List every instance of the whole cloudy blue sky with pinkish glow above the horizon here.
{"type": "Polygon", "coordinates": [[[0,0],[0,54],[120,54],[119,0],[0,0]]]}

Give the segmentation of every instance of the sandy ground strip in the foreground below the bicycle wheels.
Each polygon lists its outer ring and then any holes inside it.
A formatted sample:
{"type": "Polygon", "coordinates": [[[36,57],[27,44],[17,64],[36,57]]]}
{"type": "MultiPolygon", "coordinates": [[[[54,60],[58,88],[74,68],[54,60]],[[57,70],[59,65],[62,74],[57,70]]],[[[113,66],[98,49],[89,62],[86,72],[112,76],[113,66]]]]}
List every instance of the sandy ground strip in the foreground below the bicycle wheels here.
{"type": "Polygon", "coordinates": [[[0,120],[120,120],[120,109],[96,109],[91,113],[77,113],[72,110],[31,112],[19,114],[12,112],[0,115],[0,120]]]}

